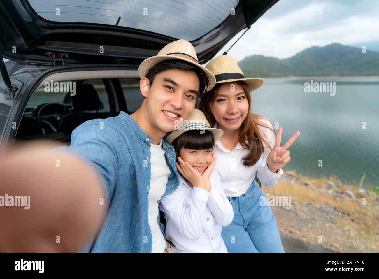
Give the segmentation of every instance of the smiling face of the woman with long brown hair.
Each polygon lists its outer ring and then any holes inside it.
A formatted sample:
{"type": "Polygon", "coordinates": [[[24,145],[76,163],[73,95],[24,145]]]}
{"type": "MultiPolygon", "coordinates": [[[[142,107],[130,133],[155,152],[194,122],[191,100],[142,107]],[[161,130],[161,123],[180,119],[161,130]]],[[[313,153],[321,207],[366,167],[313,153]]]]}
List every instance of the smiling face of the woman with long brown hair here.
{"type": "Polygon", "coordinates": [[[218,129],[239,129],[249,113],[249,102],[244,89],[236,82],[223,83],[215,102],[210,104],[210,110],[218,122],[218,129]]]}

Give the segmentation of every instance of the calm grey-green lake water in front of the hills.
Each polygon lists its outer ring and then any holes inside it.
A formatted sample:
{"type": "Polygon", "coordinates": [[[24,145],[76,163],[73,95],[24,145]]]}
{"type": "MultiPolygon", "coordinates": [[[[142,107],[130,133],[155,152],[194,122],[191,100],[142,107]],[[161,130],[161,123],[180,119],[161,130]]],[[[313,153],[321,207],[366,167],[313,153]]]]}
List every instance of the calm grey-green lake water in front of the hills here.
{"type": "Polygon", "coordinates": [[[251,93],[252,112],[283,127],[282,145],[301,132],[283,170],[312,177],[335,174],[350,185],[358,185],[366,173],[362,187],[379,186],[379,78],[313,78],[335,82],[334,96],[305,93],[310,80],[265,78],[251,93]]]}

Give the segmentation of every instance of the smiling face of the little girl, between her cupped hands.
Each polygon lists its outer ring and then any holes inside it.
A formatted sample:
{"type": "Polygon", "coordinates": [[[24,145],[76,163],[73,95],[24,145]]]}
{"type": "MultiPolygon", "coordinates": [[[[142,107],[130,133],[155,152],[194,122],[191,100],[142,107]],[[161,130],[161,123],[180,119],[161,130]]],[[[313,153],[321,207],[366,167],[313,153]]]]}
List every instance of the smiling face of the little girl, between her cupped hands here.
{"type": "Polygon", "coordinates": [[[179,157],[202,174],[212,161],[212,149],[180,149],[179,157]]]}

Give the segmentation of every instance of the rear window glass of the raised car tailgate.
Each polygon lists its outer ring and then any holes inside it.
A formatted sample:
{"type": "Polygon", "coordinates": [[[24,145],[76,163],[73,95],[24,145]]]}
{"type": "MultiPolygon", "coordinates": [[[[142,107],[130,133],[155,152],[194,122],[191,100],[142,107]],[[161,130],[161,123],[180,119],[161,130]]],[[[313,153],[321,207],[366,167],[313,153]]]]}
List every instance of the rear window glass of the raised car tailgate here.
{"type": "Polygon", "coordinates": [[[216,28],[239,0],[29,0],[55,22],[118,25],[193,41],[216,28]]]}

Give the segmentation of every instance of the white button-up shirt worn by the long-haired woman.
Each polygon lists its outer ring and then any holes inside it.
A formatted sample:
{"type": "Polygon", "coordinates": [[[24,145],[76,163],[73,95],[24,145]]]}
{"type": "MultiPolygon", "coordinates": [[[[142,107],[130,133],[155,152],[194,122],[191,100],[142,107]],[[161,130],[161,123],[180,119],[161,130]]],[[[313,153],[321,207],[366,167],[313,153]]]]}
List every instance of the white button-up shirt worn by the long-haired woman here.
{"type": "MultiPolygon", "coordinates": [[[[271,122],[266,119],[262,120],[262,122],[264,125],[273,128],[271,122]]],[[[239,197],[246,193],[255,179],[255,173],[257,173],[257,177],[262,184],[267,187],[275,185],[283,174],[281,168],[279,172],[273,173],[267,166],[267,156],[275,144],[274,132],[260,125],[258,125],[258,127],[266,136],[266,139],[269,139],[271,148],[269,149],[268,146],[263,143],[265,151],[253,166],[247,167],[243,165],[242,158],[246,157],[250,151],[249,149],[243,148],[240,143],[237,143],[232,151],[226,149],[219,140],[215,143],[213,152],[216,153],[217,161],[214,169],[216,169],[221,176],[221,185],[227,197],[239,197]]],[[[217,128],[217,122],[213,128],[217,128]]]]}

